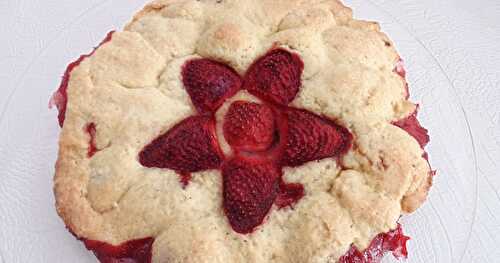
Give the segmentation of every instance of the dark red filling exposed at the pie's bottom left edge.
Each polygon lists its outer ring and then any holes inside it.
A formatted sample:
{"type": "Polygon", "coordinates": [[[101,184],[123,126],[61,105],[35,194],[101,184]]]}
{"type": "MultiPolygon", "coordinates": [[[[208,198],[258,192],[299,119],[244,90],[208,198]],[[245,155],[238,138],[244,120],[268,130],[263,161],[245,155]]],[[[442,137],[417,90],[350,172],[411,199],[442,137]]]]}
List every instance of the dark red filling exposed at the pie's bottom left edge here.
{"type": "Polygon", "coordinates": [[[88,239],[82,241],[101,263],[151,263],[154,242],[151,237],[127,241],[118,246],[88,239]]]}

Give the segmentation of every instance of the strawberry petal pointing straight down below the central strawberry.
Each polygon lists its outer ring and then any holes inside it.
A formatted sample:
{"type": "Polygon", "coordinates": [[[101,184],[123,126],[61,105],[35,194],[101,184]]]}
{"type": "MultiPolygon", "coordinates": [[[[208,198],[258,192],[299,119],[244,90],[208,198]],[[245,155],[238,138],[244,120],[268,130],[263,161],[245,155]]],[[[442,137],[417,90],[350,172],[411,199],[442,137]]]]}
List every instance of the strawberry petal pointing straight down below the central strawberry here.
{"type": "Polygon", "coordinates": [[[234,231],[247,234],[259,226],[278,194],[281,170],[270,162],[243,158],[222,166],[224,212],[234,231]]]}

